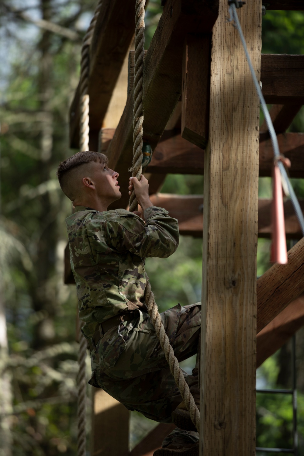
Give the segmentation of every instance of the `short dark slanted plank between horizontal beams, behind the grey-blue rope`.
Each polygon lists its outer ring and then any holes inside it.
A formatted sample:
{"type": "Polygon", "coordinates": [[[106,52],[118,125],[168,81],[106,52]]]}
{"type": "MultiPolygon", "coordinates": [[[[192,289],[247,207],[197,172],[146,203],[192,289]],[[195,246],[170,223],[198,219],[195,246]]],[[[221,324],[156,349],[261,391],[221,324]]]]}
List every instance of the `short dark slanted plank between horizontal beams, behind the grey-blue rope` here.
{"type": "MultiPolygon", "coordinates": [[[[302,104],[273,104],[269,110],[269,114],[277,135],[284,133],[288,129],[301,108],[302,104]]],[[[264,119],[263,124],[260,126],[260,133],[266,133],[267,131],[268,126],[264,119]]]]}

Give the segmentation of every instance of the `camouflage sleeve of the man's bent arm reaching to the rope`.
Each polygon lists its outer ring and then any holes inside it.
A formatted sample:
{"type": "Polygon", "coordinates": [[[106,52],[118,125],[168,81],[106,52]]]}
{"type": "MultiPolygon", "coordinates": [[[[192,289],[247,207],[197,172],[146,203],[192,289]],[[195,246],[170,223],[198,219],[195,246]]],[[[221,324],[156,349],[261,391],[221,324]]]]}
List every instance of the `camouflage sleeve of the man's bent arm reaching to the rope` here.
{"type": "Polygon", "coordinates": [[[108,246],[118,252],[130,252],[141,257],[167,258],[178,247],[179,228],[175,218],[160,207],[144,211],[146,223],[128,211],[115,211],[115,219],[104,223],[108,246]]]}

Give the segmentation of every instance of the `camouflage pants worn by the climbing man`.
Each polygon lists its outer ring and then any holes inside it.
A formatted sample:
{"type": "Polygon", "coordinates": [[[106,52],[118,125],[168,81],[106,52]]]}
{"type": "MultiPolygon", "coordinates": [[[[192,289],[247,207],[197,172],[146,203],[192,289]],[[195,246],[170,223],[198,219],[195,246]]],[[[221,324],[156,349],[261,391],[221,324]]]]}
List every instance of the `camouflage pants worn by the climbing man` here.
{"type": "MultiPolygon", "coordinates": [[[[161,314],[176,358],[196,354],[201,330],[201,304],[177,306],[161,314]]],[[[103,388],[129,410],[151,420],[171,423],[171,412],[181,402],[179,389],[147,313],[103,334],[91,352],[89,383],[103,388]]],[[[198,368],[184,372],[191,392],[198,391],[198,368]]]]}

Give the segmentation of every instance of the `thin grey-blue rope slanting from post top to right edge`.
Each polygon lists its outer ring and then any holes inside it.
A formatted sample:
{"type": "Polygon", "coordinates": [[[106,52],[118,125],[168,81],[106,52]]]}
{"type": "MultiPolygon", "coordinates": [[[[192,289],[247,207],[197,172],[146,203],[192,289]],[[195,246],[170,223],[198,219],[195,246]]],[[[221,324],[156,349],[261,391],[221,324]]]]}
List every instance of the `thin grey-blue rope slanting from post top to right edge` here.
{"type": "MultiPolygon", "coordinates": [[[[234,1],[238,5],[237,7],[242,6],[242,5],[240,5],[240,3],[242,3],[242,2],[236,2],[236,0],[234,0],[234,1]]],[[[243,32],[242,32],[242,27],[240,25],[240,21],[239,21],[238,16],[237,16],[237,8],[236,8],[235,3],[232,2],[232,1],[228,2],[228,4],[229,4],[229,12],[230,12],[230,20],[229,21],[233,21],[234,22],[233,25],[236,27],[237,31],[240,34],[242,45],[244,47],[244,51],[245,51],[245,54],[246,54],[247,62],[248,62],[249,68],[250,68],[250,72],[252,74],[252,79],[253,79],[255,88],[256,88],[256,90],[258,92],[258,97],[260,98],[263,114],[264,114],[264,117],[265,117],[265,120],[266,120],[266,124],[268,126],[268,131],[269,131],[269,135],[270,135],[270,138],[271,138],[271,144],[273,146],[274,159],[278,163],[278,167],[279,167],[279,170],[281,172],[281,176],[282,176],[282,180],[283,180],[284,190],[285,190],[285,188],[288,189],[290,199],[291,199],[292,204],[294,206],[294,210],[295,210],[295,213],[296,213],[297,218],[299,220],[299,224],[300,224],[303,236],[304,236],[304,217],[303,217],[303,213],[301,211],[301,207],[299,205],[299,201],[298,201],[298,199],[297,199],[297,197],[296,197],[296,195],[294,193],[294,189],[293,189],[293,187],[292,187],[292,185],[291,185],[291,183],[289,181],[288,174],[287,174],[287,172],[286,172],[286,170],[284,168],[284,165],[282,163],[282,160],[281,160],[282,155],[280,154],[280,151],[279,151],[279,148],[278,148],[277,135],[276,135],[276,133],[274,131],[273,123],[271,121],[271,117],[270,117],[269,111],[267,109],[267,105],[266,105],[265,99],[263,97],[262,90],[261,90],[260,85],[258,83],[258,79],[257,79],[257,77],[255,75],[255,72],[254,72],[254,69],[252,67],[250,56],[249,56],[249,53],[248,53],[248,50],[247,50],[246,41],[245,41],[245,38],[244,38],[244,35],[243,35],[243,32]]]]}

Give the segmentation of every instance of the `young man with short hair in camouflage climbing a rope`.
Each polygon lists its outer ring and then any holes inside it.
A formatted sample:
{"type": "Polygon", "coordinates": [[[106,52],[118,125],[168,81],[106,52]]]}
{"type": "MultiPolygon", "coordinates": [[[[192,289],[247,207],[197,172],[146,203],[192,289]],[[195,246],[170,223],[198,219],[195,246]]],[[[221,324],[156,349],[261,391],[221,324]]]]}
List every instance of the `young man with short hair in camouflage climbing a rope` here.
{"type": "MultiPolygon", "coordinates": [[[[144,258],[166,258],[179,243],[177,220],[154,207],[149,184],[131,177],[144,212],[108,211],[121,197],[118,173],[98,152],[78,152],[57,170],[63,192],[75,213],[67,218],[71,266],[76,281],[82,333],[88,339],[95,387],[123,403],[129,410],[161,423],[178,426],[155,451],[162,455],[198,455],[198,434],[180,391],[170,373],[144,302],[144,258]],[[180,429],[183,428],[183,429],[180,429]]],[[[165,332],[179,361],[197,352],[200,303],[177,306],[161,314],[165,332]]],[[[198,365],[184,373],[199,405],[198,365]]]]}

